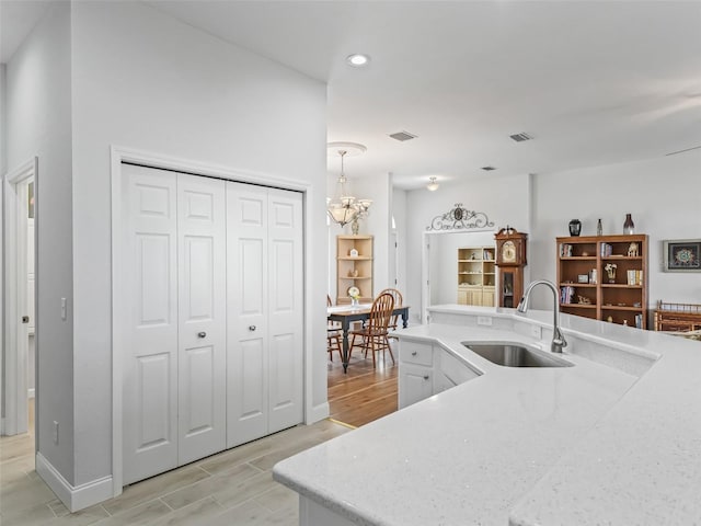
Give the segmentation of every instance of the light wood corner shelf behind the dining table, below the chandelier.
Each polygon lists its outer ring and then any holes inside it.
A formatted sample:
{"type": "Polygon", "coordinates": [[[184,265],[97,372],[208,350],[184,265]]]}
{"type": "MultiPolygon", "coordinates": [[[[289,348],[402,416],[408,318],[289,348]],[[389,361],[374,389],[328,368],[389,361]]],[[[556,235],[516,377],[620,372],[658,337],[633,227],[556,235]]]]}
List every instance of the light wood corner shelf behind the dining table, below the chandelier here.
{"type": "Polygon", "coordinates": [[[372,294],[372,236],[336,236],[336,305],[350,302],[348,289],[360,289],[360,302],[372,294]],[[352,255],[357,252],[357,255],[352,255]]]}

